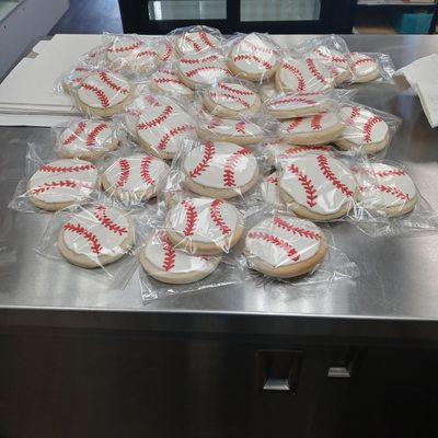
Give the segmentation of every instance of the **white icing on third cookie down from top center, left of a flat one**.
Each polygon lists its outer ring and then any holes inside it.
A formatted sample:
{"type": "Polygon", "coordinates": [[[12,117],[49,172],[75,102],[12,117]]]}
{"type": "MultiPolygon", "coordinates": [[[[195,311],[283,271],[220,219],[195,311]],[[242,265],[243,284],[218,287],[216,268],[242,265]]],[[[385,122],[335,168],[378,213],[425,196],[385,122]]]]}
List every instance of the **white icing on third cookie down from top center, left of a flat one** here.
{"type": "Polygon", "coordinates": [[[221,82],[206,93],[216,105],[231,111],[247,111],[257,101],[257,95],[252,90],[237,83],[221,82]]]}

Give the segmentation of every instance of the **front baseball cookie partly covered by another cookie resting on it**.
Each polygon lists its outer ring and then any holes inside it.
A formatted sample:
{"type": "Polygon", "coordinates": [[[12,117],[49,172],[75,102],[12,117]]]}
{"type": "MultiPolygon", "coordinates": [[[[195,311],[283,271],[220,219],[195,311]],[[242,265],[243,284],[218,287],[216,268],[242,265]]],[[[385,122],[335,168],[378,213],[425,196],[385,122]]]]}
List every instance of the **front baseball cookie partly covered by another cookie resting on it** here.
{"type": "Polygon", "coordinates": [[[160,230],[152,234],[140,251],[145,270],[159,281],[185,285],[209,276],[220,257],[194,255],[175,249],[168,234],[160,230]]]}

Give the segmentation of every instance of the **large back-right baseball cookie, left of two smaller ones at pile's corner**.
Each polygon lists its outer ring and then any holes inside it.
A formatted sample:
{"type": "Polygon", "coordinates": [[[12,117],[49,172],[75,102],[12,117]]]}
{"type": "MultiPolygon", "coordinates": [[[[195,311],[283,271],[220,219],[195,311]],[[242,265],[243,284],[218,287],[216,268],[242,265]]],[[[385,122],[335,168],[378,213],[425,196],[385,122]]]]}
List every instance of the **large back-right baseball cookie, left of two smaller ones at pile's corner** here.
{"type": "Polygon", "coordinates": [[[275,76],[277,90],[292,93],[319,93],[332,90],[334,80],[328,69],[313,58],[289,58],[275,76]]]}

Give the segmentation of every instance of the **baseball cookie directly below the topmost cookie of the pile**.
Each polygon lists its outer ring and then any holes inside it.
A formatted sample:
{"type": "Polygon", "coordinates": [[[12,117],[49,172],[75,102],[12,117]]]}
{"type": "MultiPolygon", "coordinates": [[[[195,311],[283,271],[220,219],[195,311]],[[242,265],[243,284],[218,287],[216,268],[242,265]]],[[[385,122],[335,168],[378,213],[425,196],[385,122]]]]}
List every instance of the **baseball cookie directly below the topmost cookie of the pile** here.
{"type": "Polygon", "coordinates": [[[180,79],[191,89],[212,85],[231,78],[224,59],[218,54],[200,54],[181,58],[176,65],[180,79]]]}

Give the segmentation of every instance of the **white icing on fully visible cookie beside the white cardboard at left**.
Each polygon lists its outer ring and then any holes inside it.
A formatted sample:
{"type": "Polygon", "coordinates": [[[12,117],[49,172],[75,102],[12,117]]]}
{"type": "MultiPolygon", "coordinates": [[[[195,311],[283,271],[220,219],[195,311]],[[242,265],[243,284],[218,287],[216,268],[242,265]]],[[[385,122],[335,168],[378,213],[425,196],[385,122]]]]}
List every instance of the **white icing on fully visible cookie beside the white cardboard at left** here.
{"type": "Polygon", "coordinates": [[[82,81],[78,97],[92,108],[106,110],[124,102],[129,92],[130,84],[125,78],[110,71],[99,71],[82,81]]]}

